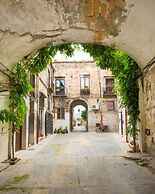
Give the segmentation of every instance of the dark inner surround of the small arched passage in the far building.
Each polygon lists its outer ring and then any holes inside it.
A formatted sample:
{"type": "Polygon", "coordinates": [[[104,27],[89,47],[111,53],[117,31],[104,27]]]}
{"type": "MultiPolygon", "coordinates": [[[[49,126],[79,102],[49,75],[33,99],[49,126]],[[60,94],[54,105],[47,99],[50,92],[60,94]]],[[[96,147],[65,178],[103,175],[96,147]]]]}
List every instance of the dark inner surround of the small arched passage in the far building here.
{"type": "Polygon", "coordinates": [[[83,106],[86,110],[87,119],[86,119],[85,129],[86,129],[86,131],[88,131],[88,105],[83,99],[76,99],[76,100],[72,101],[71,104],[70,104],[70,131],[73,131],[73,127],[74,127],[73,109],[78,105],[83,106]]]}

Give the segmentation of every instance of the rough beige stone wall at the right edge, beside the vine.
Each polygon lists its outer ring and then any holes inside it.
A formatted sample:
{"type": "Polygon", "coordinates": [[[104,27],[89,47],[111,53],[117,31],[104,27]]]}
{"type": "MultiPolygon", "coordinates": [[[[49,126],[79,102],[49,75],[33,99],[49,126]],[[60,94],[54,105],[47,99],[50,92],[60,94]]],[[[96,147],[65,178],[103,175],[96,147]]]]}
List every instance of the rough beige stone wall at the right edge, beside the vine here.
{"type": "Polygon", "coordinates": [[[140,86],[140,142],[143,150],[155,156],[155,63],[150,63],[140,86]]]}

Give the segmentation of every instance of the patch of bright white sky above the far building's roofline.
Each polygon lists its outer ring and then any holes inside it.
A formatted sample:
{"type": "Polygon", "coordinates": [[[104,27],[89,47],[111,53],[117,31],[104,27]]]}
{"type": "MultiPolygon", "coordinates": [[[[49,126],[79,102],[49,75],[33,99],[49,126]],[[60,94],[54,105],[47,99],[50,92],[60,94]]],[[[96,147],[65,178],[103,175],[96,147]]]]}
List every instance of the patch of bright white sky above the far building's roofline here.
{"type": "Polygon", "coordinates": [[[66,57],[61,55],[60,52],[54,58],[55,61],[92,61],[93,58],[90,57],[89,53],[86,53],[82,48],[76,49],[72,57],[66,57]]]}

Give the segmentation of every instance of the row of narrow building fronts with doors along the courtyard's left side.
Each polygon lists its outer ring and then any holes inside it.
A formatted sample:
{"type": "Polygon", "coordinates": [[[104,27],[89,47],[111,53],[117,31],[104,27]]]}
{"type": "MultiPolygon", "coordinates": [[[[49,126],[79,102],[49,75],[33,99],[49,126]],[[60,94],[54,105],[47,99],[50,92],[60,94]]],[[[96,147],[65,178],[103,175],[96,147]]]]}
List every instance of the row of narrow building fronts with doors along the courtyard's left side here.
{"type": "Polygon", "coordinates": [[[34,91],[26,99],[28,111],[20,133],[16,133],[16,151],[27,149],[53,132],[53,66],[49,65],[38,75],[31,75],[30,83],[34,91]]]}

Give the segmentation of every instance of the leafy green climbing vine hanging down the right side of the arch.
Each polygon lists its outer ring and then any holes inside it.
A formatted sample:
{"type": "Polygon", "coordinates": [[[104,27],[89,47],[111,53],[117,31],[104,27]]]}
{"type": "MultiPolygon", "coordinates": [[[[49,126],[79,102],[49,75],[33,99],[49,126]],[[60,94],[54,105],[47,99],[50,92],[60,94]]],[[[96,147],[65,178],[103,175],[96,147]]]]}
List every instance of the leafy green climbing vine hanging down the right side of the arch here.
{"type": "Polygon", "coordinates": [[[139,83],[142,71],[138,64],[127,54],[116,49],[84,44],[84,51],[90,53],[101,69],[110,69],[116,78],[116,90],[120,97],[121,107],[127,108],[129,115],[126,132],[133,136],[136,151],[136,135],[139,120],[139,83]]]}

